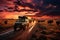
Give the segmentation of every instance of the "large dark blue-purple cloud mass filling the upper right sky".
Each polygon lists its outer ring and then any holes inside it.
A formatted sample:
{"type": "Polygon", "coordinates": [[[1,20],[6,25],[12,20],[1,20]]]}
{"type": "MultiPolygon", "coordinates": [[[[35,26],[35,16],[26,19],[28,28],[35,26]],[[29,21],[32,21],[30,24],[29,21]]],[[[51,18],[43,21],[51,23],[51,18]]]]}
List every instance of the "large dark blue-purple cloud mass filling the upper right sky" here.
{"type": "Polygon", "coordinates": [[[36,5],[36,9],[39,9],[42,11],[42,15],[50,15],[50,16],[59,16],[60,15],[60,0],[42,0],[44,3],[42,6],[40,6],[40,2],[41,0],[33,0],[33,3],[35,3],[36,5]],[[48,8],[46,8],[47,6],[49,6],[48,8]],[[56,8],[54,8],[56,7],[56,8]]]}

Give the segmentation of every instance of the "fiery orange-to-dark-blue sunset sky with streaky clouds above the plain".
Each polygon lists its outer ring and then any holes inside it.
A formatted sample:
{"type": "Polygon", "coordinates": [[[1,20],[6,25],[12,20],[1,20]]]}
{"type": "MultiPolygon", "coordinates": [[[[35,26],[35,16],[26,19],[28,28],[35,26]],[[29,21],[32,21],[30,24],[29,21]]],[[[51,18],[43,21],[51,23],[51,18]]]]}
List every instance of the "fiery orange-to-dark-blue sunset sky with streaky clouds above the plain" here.
{"type": "Polygon", "coordinates": [[[60,0],[20,0],[21,4],[16,2],[17,0],[0,0],[0,19],[17,18],[17,16],[26,13],[43,17],[60,17],[60,0]],[[17,11],[15,6],[17,6],[17,11]],[[39,15],[36,15],[35,12],[38,12],[39,15]]]}

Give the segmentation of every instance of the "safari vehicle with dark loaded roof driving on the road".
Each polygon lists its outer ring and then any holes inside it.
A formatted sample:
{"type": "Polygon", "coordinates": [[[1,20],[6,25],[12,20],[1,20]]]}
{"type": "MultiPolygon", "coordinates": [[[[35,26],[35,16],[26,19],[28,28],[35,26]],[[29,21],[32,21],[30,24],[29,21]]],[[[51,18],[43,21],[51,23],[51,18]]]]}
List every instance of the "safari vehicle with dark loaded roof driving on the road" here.
{"type": "Polygon", "coordinates": [[[19,28],[20,30],[21,29],[25,30],[27,24],[28,24],[28,18],[26,16],[22,16],[22,17],[19,16],[18,20],[15,22],[14,31],[16,31],[17,28],[19,28]]]}

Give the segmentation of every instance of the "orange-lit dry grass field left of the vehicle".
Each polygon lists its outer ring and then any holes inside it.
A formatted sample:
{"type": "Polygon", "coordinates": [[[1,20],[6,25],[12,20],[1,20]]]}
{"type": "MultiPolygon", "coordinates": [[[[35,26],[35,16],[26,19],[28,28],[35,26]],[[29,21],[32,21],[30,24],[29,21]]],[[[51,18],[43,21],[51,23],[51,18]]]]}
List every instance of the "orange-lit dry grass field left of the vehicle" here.
{"type": "Polygon", "coordinates": [[[2,27],[12,27],[15,24],[15,21],[17,19],[0,19],[0,25],[2,27]],[[4,23],[4,21],[7,20],[7,24],[4,23]]]}

